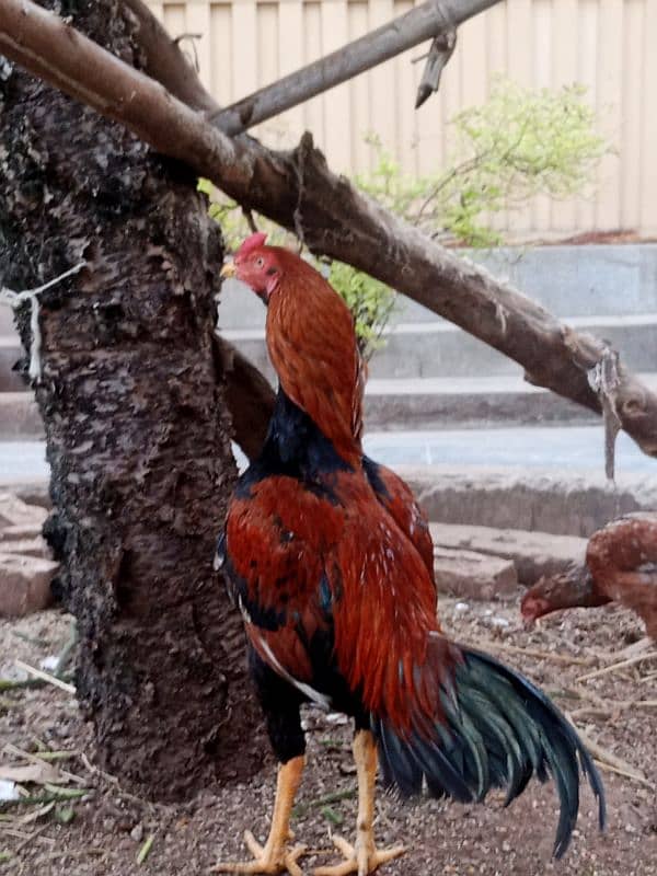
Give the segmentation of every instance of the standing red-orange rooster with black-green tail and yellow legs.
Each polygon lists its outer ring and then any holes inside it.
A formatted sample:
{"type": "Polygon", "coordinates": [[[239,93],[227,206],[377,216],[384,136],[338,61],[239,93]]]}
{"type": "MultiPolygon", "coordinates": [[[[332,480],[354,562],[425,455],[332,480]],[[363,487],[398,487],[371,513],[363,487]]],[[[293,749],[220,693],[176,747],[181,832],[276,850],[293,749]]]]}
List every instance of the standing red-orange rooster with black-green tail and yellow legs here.
{"type": "Polygon", "coordinates": [[[573,727],[527,679],[442,633],[428,530],[404,482],[364,457],[365,373],[349,310],[293,253],[249,238],[222,269],[267,304],[266,339],[279,388],[260,457],[238,482],[221,534],[221,568],[244,619],[250,667],[279,762],[266,844],[221,863],[226,873],[301,873],[289,817],[304,765],[302,703],[355,722],[354,845],[315,876],[366,876],[405,850],[378,850],[373,799],[404,796],[510,803],[532,775],[556,783],[554,853],[569,842],[580,772],[604,822],[600,777],[573,727]]]}

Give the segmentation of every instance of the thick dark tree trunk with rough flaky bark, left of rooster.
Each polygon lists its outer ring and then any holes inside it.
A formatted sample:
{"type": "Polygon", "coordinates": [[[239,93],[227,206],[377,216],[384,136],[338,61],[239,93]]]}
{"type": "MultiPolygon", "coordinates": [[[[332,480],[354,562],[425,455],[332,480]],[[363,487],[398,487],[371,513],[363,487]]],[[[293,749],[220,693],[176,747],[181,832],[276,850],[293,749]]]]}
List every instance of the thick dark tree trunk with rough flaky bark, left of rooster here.
{"type": "MultiPolygon", "coordinates": [[[[138,62],[117,0],[49,5],[138,62]]],[[[211,570],[234,464],[212,341],[222,244],[195,182],[0,67],[0,276],[28,288],[87,260],[41,296],[36,388],[78,695],[101,765],[160,798],[244,775],[262,750],[241,622],[211,570]]]]}

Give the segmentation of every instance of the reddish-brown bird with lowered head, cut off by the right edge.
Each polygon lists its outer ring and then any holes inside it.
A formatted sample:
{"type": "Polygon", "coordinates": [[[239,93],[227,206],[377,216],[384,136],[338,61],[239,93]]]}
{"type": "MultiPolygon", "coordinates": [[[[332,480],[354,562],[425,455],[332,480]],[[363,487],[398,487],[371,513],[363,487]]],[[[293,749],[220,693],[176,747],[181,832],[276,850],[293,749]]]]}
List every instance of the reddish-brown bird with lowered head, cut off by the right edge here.
{"type": "Polygon", "coordinates": [[[608,602],[635,611],[648,638],[657,641],[657,514],[629,515],[595,532],[586,566],[541,578],[525,595],[520,611],[531,624],[552,611],[608,602]]]}

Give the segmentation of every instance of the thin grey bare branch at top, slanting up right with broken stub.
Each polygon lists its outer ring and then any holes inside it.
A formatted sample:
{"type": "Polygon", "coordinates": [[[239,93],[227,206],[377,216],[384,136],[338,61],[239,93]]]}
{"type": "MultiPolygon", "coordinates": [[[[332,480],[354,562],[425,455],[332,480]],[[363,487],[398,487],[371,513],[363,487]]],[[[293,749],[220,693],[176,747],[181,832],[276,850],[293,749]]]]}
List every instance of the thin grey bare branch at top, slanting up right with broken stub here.
{"type": "MultiPolygon", "coordinates": [[[[323,91],[346,82],[358,73],[394,58],[425,39],[452,32],[458,24],[495,5],[499,0],[428,0],[404,15],[383,24],[376,31],[361,36],[338,48],[331,55],[302,67],[277,82],[250,94],[238,103],[210,116],[224,134],[241,134],[261,122],[278,115],[323,91]]],[[[449,39],[448,39],[449,42],[449,39]]],[[[451,37],[451,49],[454,39],[451,37]]],[[[449,54],[442,48],[440,70],[447,64],[449,54]]],[[[435,70],[435,65],[431,65],[435,70]]],[[[438,78],[440,73],[438,72],[438,78]]],[[[436,80],[434,76],[433,81],[436,80]]],[[[435,88],[429,87],[427,95],[435,88]]],[[[416,106],[419,104],[416,104],[416,106]]]]}

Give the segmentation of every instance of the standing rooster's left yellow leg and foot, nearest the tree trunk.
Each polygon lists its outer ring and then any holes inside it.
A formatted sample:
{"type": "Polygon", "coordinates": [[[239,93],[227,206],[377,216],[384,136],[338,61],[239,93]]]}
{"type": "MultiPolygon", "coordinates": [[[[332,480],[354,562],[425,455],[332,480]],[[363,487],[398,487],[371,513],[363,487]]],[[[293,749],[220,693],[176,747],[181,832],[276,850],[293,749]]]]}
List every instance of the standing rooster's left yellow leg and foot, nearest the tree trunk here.
{"type": "Polygon", "coordinates": [[[293,849],[289,849],[288,840],[291,839],[290,811],[301,781],[304,760],[301,754],[278,768],[272,828],[265,845],[262,846],[250,830],[244,833],[244,842],[255,860],[238,864],[217,864],[212,867],[214,873],[277,874],[287,872],[290,876],[302,876],[297,860],[306,852],[306,846],[296,845],[293,849]]]}

